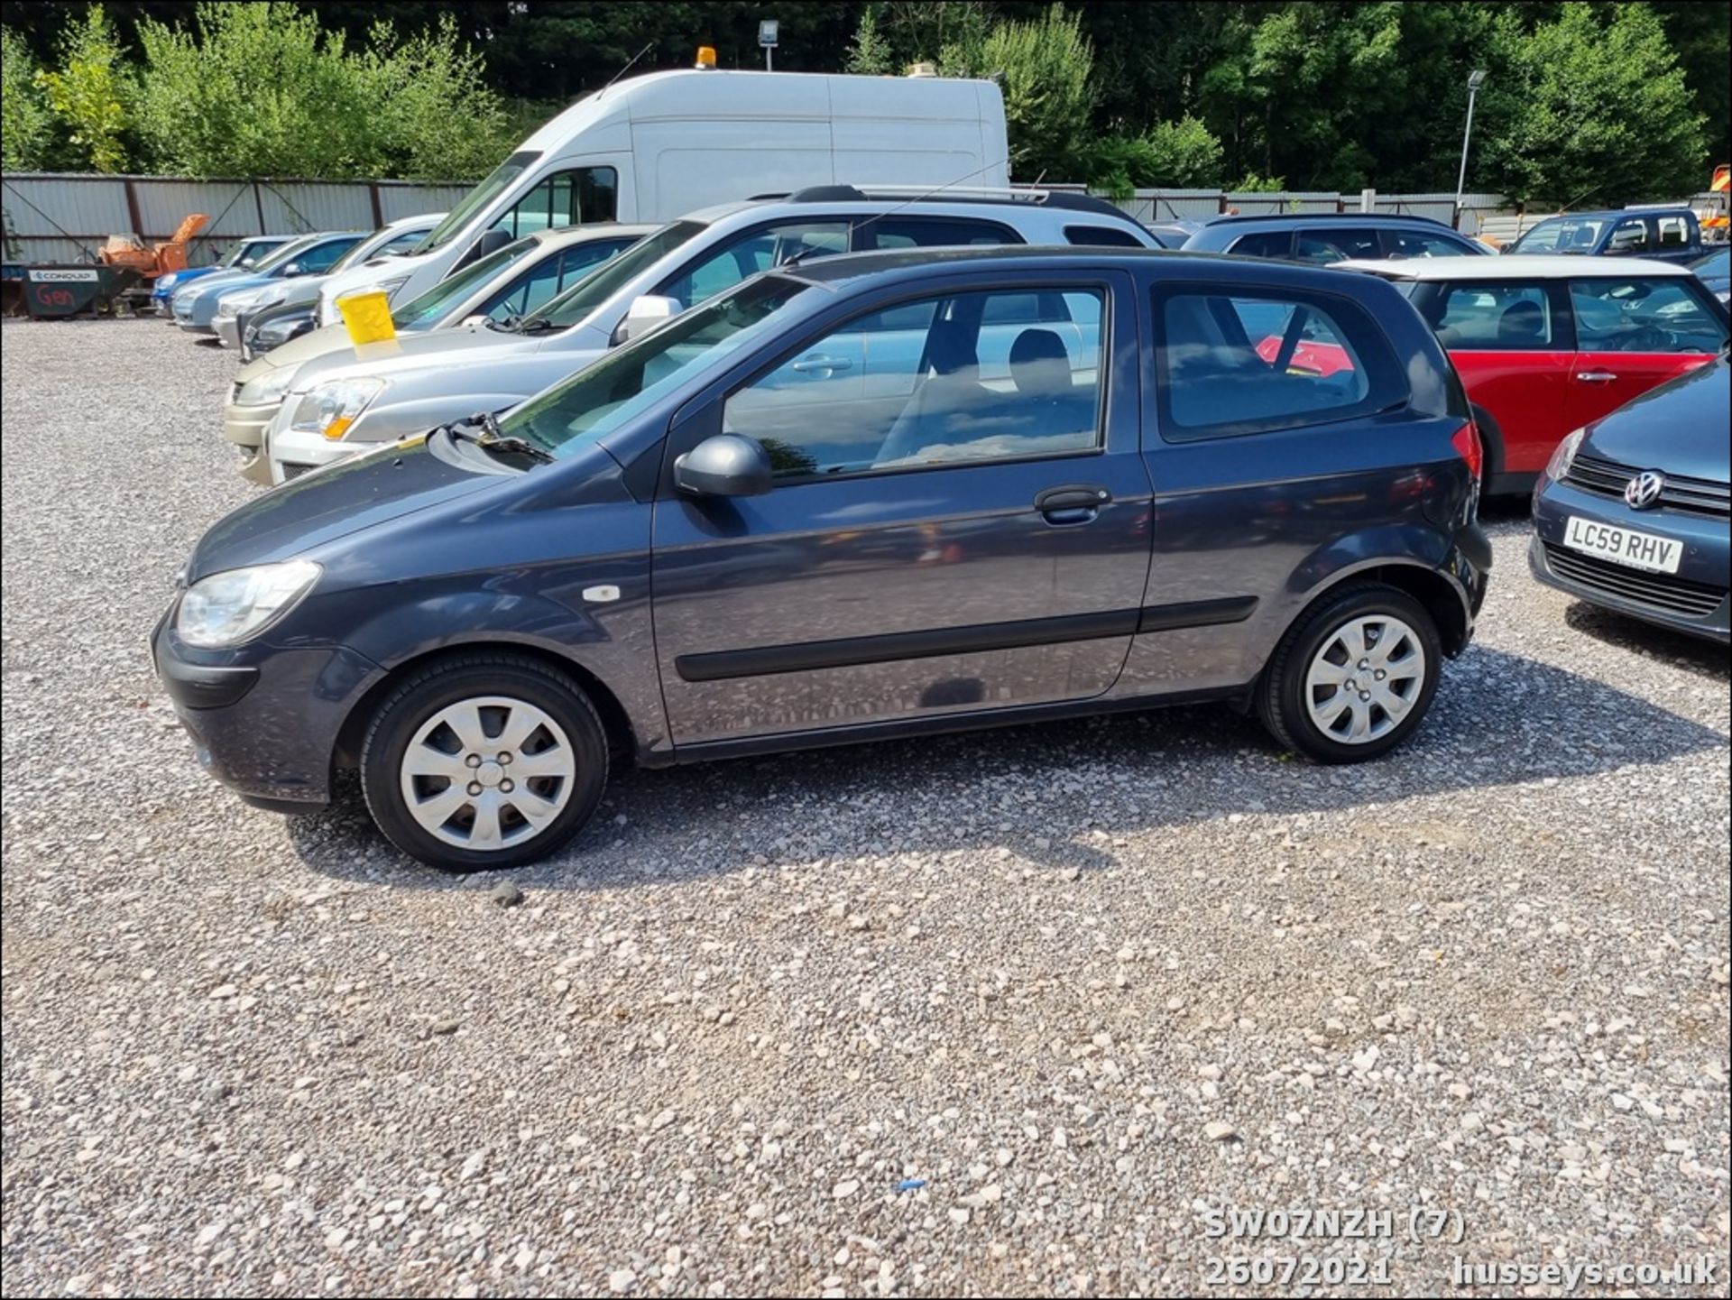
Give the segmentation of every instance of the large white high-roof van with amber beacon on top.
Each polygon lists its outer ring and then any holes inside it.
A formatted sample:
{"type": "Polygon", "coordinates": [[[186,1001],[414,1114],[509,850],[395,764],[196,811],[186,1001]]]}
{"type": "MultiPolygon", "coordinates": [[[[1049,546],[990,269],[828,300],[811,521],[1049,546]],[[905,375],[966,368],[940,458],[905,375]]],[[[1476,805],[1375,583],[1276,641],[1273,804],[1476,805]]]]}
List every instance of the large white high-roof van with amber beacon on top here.
{"type": "Polygon", "coordinates": [[[991,81],[811,73],[650,73],[580,99],[469,190],[414,253],[333,275],[336,298],[404,301],[535,230],[670,222],[812,185],[1010,183],[1005,100],[991,81]]]}

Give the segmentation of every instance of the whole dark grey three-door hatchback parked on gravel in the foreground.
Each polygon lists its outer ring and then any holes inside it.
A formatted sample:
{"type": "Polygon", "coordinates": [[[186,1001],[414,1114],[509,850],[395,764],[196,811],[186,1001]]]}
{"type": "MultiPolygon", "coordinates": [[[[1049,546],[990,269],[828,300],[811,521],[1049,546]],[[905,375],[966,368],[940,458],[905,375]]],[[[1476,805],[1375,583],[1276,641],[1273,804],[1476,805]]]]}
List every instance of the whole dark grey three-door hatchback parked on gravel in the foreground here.
{"type": "Polygon", "coordinates": [[[152,653],[246,801],[359,769],[447,869],[558,850],[618,762],[1197,699],[1353,762],[1472,635],[1479,457],[1372,277],[843,254],[241,507],[152,653]]]}

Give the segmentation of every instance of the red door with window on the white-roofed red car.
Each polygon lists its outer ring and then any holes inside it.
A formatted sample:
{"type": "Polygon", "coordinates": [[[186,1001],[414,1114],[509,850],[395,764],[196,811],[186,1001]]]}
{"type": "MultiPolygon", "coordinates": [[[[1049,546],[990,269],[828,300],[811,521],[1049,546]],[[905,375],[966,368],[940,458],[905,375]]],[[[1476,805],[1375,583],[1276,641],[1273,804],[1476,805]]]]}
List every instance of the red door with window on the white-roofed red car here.
{"type": "Polygon", "coordinates": [[[1576,358],[1569,426],[1708,362],[1727,339],[1725,317],[1694,275],[1619,275],[1569,282],[1576,358]]]}

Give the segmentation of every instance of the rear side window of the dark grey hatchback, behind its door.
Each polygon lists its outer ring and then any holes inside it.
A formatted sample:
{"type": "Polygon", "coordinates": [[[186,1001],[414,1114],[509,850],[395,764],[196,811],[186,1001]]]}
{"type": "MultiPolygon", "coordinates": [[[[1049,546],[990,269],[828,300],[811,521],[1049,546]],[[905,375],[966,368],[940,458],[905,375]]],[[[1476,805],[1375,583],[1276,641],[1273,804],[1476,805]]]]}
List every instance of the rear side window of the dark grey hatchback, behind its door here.
{"type": "Polygon", "coordinates": [[[1408,395],[1377,322],[1344,298],[1157,289],[1155,319],[1167,441],[1325,424],[1408,395]]]}

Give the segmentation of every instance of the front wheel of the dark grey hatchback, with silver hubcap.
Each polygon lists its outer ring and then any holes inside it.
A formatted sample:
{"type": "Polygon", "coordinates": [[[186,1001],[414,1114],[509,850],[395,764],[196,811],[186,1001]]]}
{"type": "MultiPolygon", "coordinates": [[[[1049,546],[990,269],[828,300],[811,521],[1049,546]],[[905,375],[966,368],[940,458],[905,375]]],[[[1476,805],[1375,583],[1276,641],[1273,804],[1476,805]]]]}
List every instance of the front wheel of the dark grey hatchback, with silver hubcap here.
{"type": "Polygon", "coordinates": [[[608,784],[608,741],[577,682],[509,653],[410,675],[360,751],[367,810],[410,857],[445,871],[516,867],[558,852],[608,784]]]}

